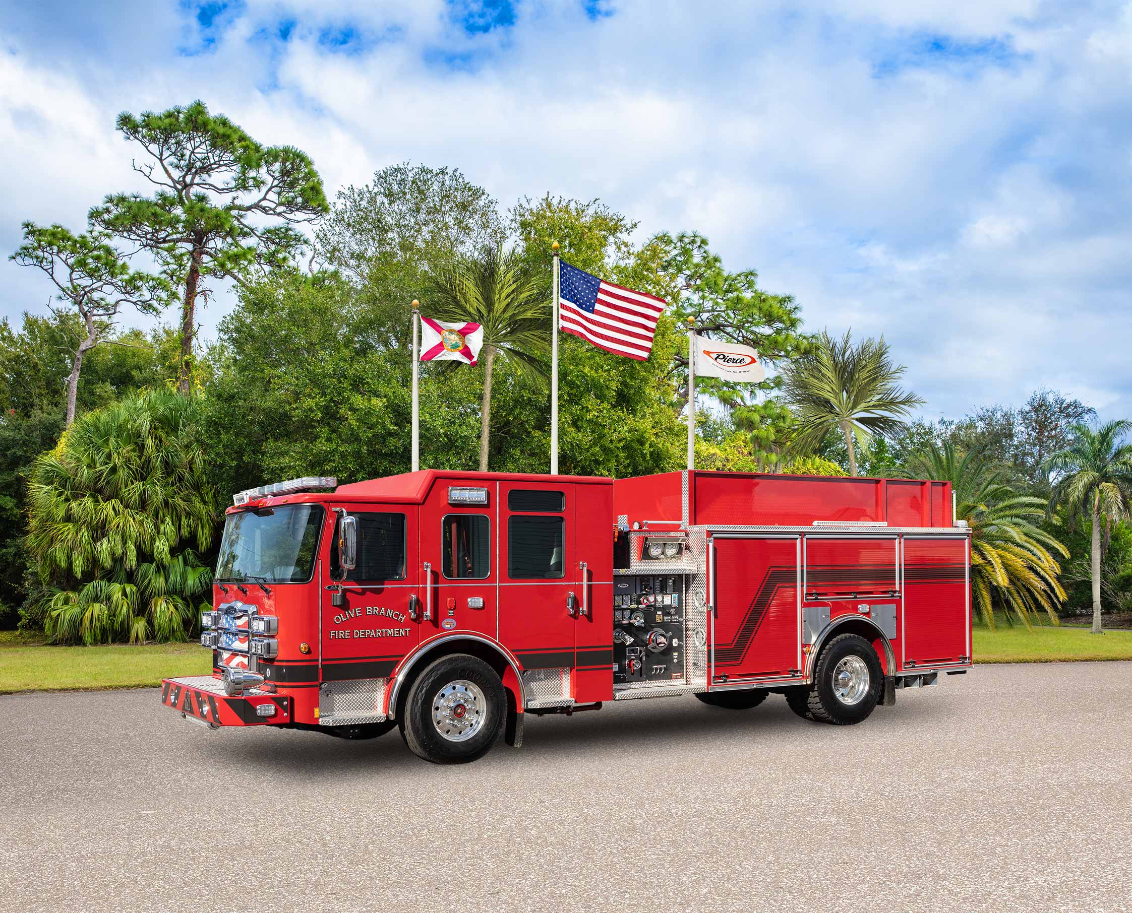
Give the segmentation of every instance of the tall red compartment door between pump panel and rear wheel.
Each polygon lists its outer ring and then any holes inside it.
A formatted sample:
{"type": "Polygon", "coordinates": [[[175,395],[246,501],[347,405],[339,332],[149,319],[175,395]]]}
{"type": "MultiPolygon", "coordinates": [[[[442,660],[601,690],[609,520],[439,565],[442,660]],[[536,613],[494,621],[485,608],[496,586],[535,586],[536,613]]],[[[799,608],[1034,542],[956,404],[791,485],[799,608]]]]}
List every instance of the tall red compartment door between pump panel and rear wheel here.
{"type": "Polygon", "coordinates": [[[711,684],[801,674],[800,550],[798,536],[712,539],[711,684]]]}

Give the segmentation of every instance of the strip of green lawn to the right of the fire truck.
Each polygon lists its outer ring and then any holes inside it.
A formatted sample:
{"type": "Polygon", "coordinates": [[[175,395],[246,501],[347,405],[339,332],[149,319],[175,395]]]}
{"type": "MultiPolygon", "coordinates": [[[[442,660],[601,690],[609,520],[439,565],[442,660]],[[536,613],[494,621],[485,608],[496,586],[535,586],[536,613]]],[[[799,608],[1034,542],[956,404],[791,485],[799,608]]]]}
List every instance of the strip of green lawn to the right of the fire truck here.
{"type": "Polygon", "coordinates": [[[1035,626],[1026,630],[1003,620],[995,629],[975,628],[976,663],[1057,663],[1082,660],[1132,660],[1132,631],[1089,634],[1088,628],[1035,626]]]}

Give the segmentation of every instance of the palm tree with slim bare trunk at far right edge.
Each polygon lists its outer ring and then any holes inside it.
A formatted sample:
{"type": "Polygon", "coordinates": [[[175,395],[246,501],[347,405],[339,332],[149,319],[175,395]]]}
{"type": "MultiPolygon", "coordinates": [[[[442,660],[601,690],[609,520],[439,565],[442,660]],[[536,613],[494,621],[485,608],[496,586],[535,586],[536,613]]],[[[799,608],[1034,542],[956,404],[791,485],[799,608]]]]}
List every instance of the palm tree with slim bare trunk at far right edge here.
{"type": "Polygon", "coordinates": [[[1092,632],[1100,629],[1100,526],[1129,516],[1132,501],[1132,443],[1124,436],[1130,421],[1107,422],[1094,431],[1087,424],[1072,428],[1073,441],[1053,454],[1045,471],[1056,474],[1050,508],[1065,505],[1092,522],[1092,632]]]}

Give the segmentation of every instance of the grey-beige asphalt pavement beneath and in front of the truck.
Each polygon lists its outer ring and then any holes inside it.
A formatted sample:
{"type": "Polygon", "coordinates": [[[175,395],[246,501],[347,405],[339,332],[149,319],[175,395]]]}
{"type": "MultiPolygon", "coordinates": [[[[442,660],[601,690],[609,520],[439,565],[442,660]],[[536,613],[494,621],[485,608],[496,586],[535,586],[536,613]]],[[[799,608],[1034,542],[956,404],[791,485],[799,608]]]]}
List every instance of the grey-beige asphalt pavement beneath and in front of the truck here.
{"type": "Polygon", "coordinates": [[[978,666],[857,726],[691,697],[438,767],[0,697],[0,911],[1129,911],[1132,663],[978,666]]]}

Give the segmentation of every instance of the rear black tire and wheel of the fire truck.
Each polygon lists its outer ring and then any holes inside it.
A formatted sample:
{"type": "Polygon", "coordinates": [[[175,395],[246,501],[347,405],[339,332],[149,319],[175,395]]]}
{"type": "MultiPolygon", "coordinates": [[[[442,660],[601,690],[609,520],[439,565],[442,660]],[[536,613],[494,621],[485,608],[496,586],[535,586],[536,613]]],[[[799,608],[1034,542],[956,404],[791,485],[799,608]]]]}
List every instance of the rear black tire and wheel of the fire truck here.
{"type": "Polygon", "coordinates": [[[856,634],[842,634],[826,644],[822,655],[817,657],[814,683],[809,688],[797,689],[792,695],[787,694],[787,700],[799,716],[835,726],[849,726],[868,718],[881,699],[883,688],[884,673],[873,645],[856,634]],[[842,664],[856,665],[856,671],[850,672],[842,664]],[[835,682],[834,678],[846,674],[850,675],[849,681],[856,679],[859,696],[854,696],[850,688],[850,692],[842,697],[844,683],[840,680],[835,682]],[[840,691],[835,687],[838,684],[842,686],[840,691]],[[806,713],[801,713],[803,697],[806,699],[806,713]]]}

